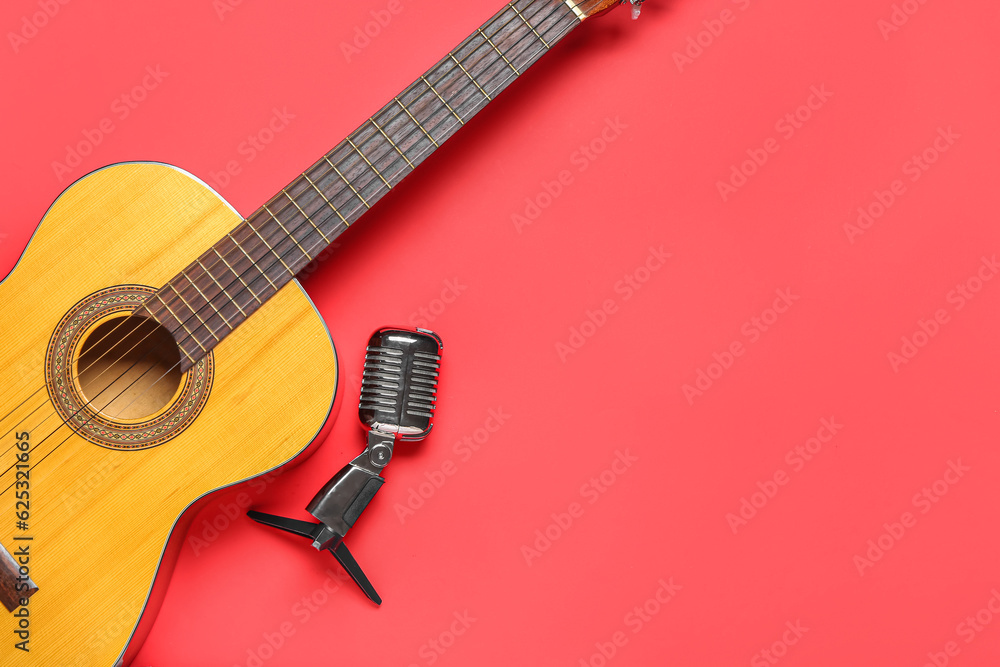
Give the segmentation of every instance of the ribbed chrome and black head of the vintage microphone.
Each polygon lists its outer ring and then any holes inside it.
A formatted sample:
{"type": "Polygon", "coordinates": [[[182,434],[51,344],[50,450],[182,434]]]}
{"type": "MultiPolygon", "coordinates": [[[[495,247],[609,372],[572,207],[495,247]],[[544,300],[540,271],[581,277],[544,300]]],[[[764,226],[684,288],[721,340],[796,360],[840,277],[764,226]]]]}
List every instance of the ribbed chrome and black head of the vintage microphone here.
{"type": "Polygon", "coordinates": [[[366,428],[422,440],[434,425],[441,338],[427,329],[379,329],[368,340],[358,415],[366,428]]]}

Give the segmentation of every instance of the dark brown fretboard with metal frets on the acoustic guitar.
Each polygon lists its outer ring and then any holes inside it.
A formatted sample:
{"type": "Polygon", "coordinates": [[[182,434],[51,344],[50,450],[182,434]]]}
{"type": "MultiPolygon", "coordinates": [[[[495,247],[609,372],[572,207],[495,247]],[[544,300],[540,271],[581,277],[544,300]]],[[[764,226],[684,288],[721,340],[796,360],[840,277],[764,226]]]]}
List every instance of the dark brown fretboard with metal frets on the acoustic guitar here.
{"type": "Polygon", "coordinates": [[[137,314],[188,370],[579,23],[565,0],[506,5],[137,314]]]}

